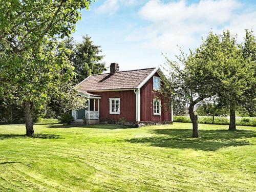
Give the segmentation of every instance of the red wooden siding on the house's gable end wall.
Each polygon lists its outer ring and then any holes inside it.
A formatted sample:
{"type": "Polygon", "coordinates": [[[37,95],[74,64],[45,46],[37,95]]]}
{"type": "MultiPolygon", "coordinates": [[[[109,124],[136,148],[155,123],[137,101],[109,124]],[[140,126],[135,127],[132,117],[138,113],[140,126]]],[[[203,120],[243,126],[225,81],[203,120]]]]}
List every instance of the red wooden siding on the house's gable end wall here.
{"type": "MultiPolygon", "coordinates": [[[[153,76],[158,76],[155,73],[153,76]]],[[[140,91],[140,121],[171,121],[171,110],[164,105],[164,98],[161,99],[161,115],[153,113],[153,77],[142,86],[140,91]]]]}

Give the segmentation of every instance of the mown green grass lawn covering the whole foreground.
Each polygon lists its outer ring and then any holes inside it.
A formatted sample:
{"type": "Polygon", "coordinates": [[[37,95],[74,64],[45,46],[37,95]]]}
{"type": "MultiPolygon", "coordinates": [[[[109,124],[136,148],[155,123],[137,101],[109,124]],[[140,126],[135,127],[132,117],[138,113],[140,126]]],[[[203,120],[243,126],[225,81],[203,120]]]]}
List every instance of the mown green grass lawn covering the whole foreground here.
{"type": "Polygon", "coordinates": [[[0,191],[256,191],[256,129],[0,125],[0,191]]]}

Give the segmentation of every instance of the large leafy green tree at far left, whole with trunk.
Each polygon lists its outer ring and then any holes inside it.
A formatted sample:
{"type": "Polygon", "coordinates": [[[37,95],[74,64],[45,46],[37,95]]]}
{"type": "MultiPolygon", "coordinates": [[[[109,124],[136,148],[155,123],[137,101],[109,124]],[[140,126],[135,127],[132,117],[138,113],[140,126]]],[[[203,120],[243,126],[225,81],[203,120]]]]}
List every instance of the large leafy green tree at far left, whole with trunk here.
{"type": "Polygon", "coordinates": [[[25,106],[27,136],[33,136],[33,109],[74,76],[68,50],[57,39],[71,34],[79,9],[90,0],[25,1],[0,4],[0,94],[25,106]]]}

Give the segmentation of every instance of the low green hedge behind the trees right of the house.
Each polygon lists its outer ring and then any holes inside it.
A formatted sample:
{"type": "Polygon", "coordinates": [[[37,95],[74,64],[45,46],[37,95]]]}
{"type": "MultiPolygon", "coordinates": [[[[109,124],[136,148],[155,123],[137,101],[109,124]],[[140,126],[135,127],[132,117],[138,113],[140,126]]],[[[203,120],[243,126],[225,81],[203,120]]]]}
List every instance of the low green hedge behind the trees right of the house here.
{"type": "MultiPolygon", "coordinates": [[[[174,116],[174,122],[191,123],[189,116],[174,116]]],[[[198,123],[213,124],[212,117],[198,116],[198,123]]],[[[215,117],[214,124],[228,125],[229,117],[215,117]]],[[[256,117],[236,117],[236,124],[243,126],[256,126],[256,117]]]]}

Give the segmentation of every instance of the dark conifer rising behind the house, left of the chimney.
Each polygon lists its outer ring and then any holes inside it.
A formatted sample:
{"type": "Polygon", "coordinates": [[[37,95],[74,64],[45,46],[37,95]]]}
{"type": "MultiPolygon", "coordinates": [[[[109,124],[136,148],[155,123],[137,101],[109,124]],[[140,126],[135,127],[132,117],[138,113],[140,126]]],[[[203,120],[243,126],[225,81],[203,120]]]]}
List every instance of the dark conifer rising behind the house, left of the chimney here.
{"type": "Polygon", "coordinates": [[[106,70],[105,63],[100,62],[104,57],[99,55],[102,52],[100,46],[94,45],[88,35],[83,36],[83,40],[80,43],[76,43],[72,38],[69,38],[66,40],[66,45],[73,50],[70,60],[74,63],[78,82],[91,74],[99,74],[106,70]]]}

